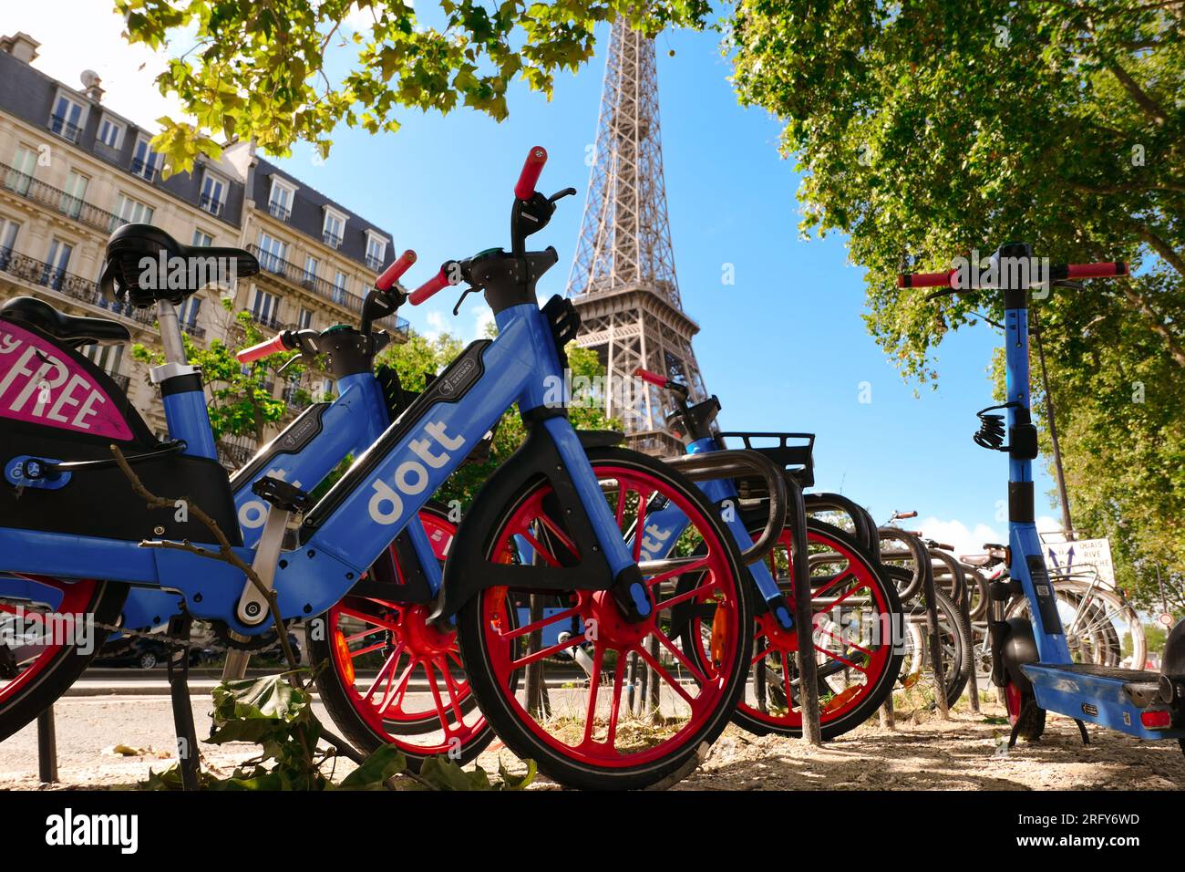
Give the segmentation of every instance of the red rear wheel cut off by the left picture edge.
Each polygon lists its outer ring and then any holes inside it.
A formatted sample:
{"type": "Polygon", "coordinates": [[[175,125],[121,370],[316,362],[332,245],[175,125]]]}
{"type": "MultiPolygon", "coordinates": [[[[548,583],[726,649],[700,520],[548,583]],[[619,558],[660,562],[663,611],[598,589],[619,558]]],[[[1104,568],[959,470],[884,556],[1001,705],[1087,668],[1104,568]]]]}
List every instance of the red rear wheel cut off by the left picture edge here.
{"type": "Polygon", "coordinates": [[[126,585],[45,575],[0,577],[0,739],[72,685],[107,639],[126,585]]]}

